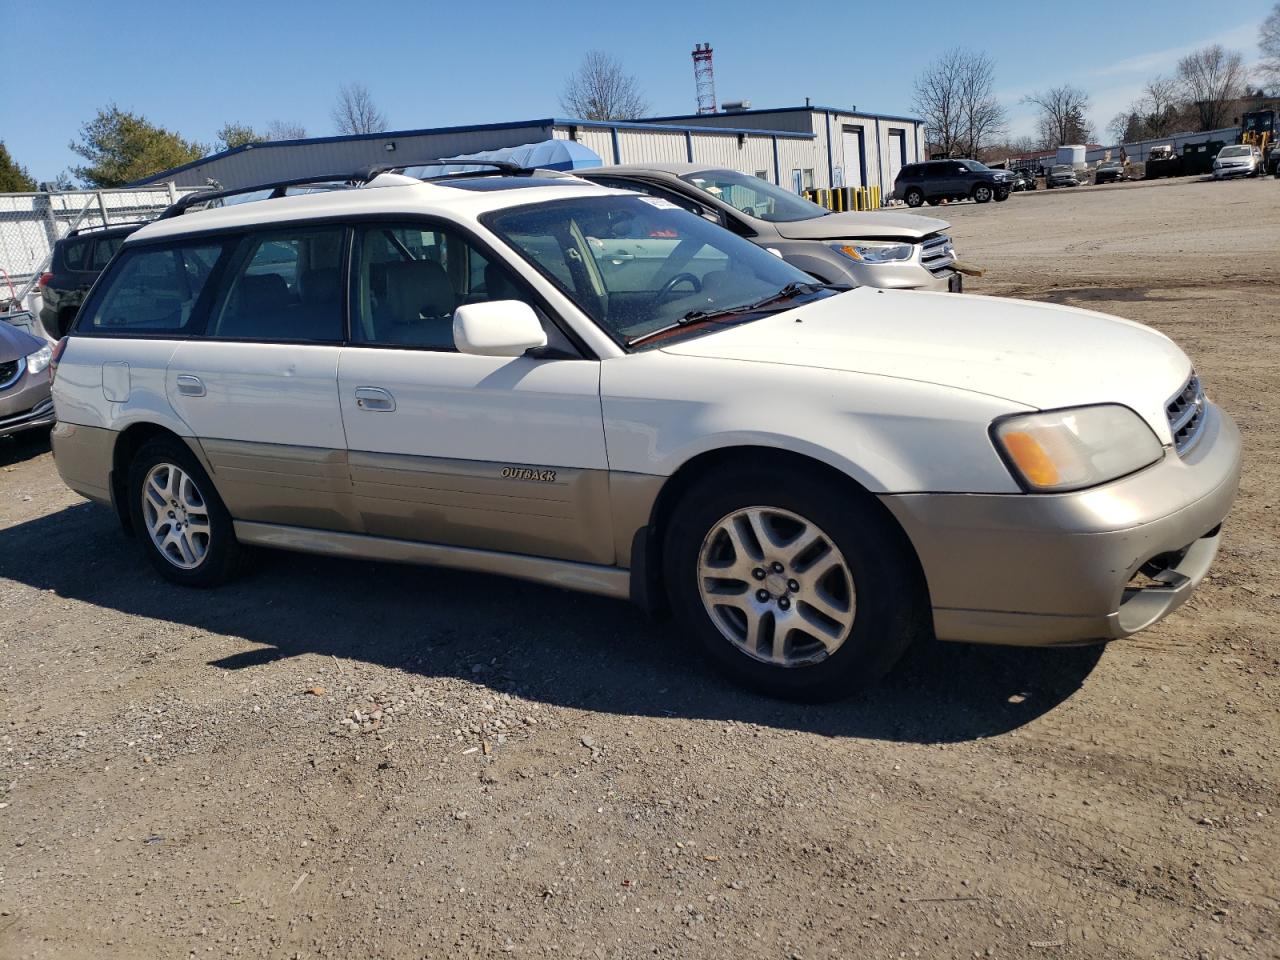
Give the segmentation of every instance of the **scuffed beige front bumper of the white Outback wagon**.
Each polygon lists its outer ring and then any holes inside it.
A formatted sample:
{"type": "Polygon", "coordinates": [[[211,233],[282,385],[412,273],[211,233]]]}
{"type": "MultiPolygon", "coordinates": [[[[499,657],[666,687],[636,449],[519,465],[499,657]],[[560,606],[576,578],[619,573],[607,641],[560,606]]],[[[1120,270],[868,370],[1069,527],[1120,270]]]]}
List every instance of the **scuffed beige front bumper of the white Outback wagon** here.
{"type": "Polygon", "coordinates": [[[1217,553],[1240,434],[1208,404],[1185,457],[1055,495],[882,497],[920,558],[940,640],[1074,645],[1129,636],[1190,596],[1217,553]]]}

